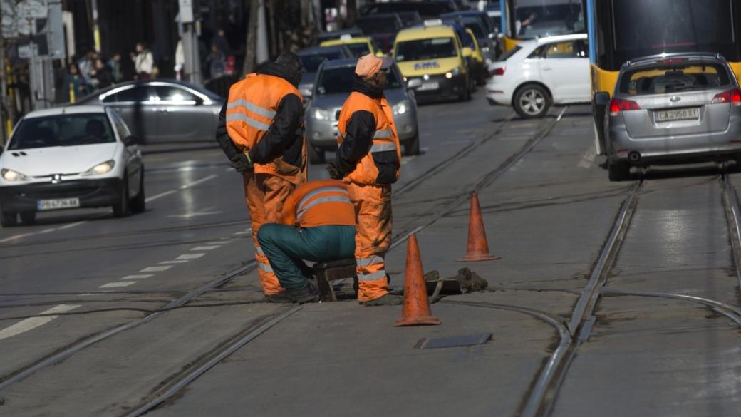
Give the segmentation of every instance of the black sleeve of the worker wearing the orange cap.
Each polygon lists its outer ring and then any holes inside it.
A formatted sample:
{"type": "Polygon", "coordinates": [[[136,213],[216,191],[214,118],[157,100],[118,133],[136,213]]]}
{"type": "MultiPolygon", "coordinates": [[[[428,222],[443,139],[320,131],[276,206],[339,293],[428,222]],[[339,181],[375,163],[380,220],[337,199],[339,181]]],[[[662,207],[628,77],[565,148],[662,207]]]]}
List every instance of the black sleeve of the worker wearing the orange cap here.
{"type": "Polygon", "coordinates": [[[374,134],[376,118],[373,114],[365,110],[353,113],[345,128],[345,139],[337,149],[337,168],[345,174],[352,172],[358,161],[371,150],[374,134]]]}

